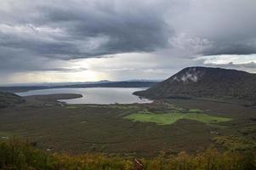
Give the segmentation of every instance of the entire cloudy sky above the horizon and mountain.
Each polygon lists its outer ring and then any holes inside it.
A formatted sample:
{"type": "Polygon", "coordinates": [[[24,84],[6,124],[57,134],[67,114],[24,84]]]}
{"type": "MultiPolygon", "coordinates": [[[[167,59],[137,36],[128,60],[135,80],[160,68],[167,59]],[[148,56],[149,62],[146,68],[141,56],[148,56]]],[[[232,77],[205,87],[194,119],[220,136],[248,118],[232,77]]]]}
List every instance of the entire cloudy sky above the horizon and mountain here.
{"type": "Polygon", "coordinates": [[[0,84],[256,73],[255,0],[1,0],[0,84]]]}

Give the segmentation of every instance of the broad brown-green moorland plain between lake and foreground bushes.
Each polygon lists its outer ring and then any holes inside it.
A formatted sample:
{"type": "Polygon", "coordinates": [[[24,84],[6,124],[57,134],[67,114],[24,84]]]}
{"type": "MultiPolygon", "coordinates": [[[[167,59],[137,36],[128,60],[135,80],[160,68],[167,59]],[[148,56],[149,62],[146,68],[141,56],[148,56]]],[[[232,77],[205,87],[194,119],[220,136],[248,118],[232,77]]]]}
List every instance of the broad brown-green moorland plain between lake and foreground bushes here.
{"type": "Polygon", "coordinates": [[[0,132],[0,140],[17,136],[52,152],[125,156],[191,153],[210,144],[222,148],[224,143],[216,138],[230,135],[250,145],[256,141],[255,108],[191,99],[143,105],[60,105],[28,98],[22,105],[0,110],[0,132]],[[173,123],[159,126],[124,118],[134,114],[144,114],[143,119],[155,116],[160,124],[173,123]]]}

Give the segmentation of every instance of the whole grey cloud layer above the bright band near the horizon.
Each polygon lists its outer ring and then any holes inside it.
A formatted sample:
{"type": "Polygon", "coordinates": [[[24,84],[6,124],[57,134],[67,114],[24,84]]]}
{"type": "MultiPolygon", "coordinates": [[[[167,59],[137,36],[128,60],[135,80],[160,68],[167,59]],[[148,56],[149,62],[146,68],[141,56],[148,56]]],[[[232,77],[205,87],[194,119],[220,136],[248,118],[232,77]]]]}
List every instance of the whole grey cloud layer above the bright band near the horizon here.
{"type": "MultiPolygon", "coordinates": [[[[255,54],[255,8],[254,0],[4,0],[0,71],[65,71],[60,60],[136,52],[160,51],[177,65],[255,54]]],[[[165,67],[165,58],[155,62],[165,67]]]]}

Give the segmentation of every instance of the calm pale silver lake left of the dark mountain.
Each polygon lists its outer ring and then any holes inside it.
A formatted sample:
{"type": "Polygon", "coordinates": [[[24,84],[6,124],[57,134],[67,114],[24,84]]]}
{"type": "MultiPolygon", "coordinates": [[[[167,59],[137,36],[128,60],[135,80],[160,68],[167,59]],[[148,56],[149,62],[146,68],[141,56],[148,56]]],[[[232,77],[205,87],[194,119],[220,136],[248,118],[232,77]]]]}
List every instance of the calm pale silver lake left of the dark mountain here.
{"type": "Polygon", "coordinates": [[[78,99],[60,99],[68,104],[132,104],[150,103],[149,99],[140,99],[133,95],[135,91],[146,88],[51,88],[16,93],[20,96],[37,94],[82,94],[78,99]]]}

